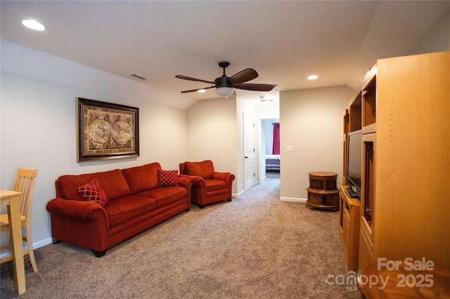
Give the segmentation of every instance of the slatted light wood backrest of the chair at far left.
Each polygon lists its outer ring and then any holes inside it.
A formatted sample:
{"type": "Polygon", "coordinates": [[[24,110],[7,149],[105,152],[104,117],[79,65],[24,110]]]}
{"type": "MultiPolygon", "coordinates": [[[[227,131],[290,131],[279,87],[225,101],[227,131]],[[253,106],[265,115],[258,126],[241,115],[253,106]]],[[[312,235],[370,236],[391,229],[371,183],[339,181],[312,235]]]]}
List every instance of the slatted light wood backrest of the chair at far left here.
{"type": "Polygon", "coordinates": [[[15,178],[14,191],[23,192],[20,197],[20,214],[27,216],[31,211],[34,185],[39,169],[19,168],[15,178]]]}

